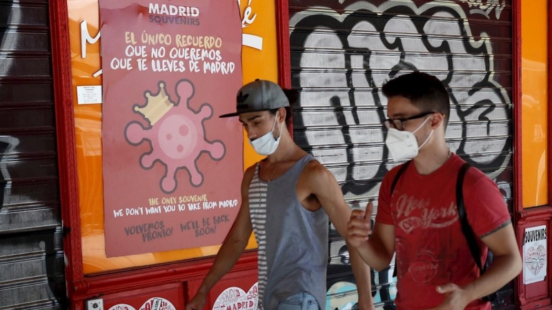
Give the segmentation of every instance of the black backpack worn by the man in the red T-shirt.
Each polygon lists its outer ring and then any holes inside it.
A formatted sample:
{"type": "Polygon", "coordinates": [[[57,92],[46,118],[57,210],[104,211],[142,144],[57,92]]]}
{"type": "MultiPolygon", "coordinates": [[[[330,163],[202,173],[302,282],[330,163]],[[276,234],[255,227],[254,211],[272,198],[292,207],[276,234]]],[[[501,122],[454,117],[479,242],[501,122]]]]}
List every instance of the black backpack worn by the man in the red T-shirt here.
{"type": "MultiPolygon", "coordinates": [[[[397,172],[397,176],[395,176],[395,180],[393,180],[393,183],[391,184],[391,195],[393,195],[393,190],[395,190],[395,186],[397,185],[397,182],[399,182],[400,177],[402,174],[406,171],[406,168],[408,168],[408,165],[411,163],[411,161],[408,161],[402,167],[400,167],[399,172],[397,172]]],[[[475,234],[473,233],[473,229],[471,228],[471,225],[468,223],[468,217],[466,216],[466,208],[464,207],[464,193],[462,192],[462,185],[464,184],[464,176],[466,176],[466,172],[468,169],[470,169],[471,165],[469,163],[464,163],[462,167],[460,168],[460,171],[458,172],[458,176],[456,178],[456,206],[458,210],[458,217],[460,218],[460,224],[462,225],[462,234],[464,234],[464,237],[466,238],[466,241],[468,242],[468,247],[471,252],[471,257],[473,260],[475,260],[475,264],[480,270],[480,276],[485,273],[487,268],[489,268],[489,265],[491,265],[491,262],[493,260],[493,254],[491,251],[487,254],[487,259],[485,261],[485,265],[481,264],[481,252],[479,249],[479,246],[477,245],[477,239],[475,237],[475,234]]],[[[393,271],[393,277],[397,276],[397,267],[395,267],[395,270],[393,271]]],[[[497,299],[497,293],[491,293],[489,296],[485,296],[483,300],[488,302],[494,302],[497,299]]]]}

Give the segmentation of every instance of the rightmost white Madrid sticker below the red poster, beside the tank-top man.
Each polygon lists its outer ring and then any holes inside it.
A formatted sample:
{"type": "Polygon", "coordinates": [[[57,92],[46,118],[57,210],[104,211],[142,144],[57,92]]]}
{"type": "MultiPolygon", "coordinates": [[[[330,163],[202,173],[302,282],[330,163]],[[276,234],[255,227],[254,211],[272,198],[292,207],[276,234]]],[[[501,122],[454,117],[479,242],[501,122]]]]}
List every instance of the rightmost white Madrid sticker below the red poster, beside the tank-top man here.
{"type": "Polygon", "coordinates": [[[229,287],[220,293],[213,305],[213,310],[255,310],[257,309],[258,283],[246,293],[239,287],[229,287]]]}

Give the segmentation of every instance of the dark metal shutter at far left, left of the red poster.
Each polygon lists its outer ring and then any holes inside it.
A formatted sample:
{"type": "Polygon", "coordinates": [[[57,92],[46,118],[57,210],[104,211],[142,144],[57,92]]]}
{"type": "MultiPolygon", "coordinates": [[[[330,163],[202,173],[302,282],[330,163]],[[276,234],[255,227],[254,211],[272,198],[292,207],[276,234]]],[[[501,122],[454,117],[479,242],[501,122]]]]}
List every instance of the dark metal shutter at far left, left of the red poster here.
{"type": "Polygon", "coordinates": [[[66,308],[48,1],[0,0],[0,309],[66,308]]]}

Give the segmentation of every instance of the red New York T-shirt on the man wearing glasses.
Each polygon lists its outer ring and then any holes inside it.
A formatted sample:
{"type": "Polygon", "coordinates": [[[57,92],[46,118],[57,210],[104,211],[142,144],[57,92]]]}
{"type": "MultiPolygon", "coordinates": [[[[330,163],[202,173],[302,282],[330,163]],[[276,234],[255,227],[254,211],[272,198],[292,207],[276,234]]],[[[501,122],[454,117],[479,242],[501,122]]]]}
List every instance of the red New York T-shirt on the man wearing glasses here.
{"type": "MultiPolygon", "coordinates": [[[[397,309],[429,309],[444,301],[437,285],[466,285],[479,277],[457,214],[456,178],[464,161],[453,154],[432,174],[422,176],[414,163],[395,185],[399,167],[386,174],[376,222],[395,226],[397,309]]],[[[471,167],[464,178],[464,205],[476,236],[485,236],[510,220],[497,185],[471,167]]],[[[480,242],[482,262],[487,249],[480,242]]],[[[491,309],[475,300],[466,309],[491,309]]]]}

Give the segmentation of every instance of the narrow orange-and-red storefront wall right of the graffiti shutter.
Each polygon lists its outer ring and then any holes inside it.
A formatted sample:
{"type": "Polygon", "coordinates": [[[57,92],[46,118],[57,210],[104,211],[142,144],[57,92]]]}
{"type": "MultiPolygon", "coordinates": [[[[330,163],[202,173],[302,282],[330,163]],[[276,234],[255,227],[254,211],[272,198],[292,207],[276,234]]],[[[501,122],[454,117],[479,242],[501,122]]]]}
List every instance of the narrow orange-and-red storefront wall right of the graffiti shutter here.
{"type": "MultiPolygon", "coordinates": [[[[552,249],[551,231],[551,109],[550,109],[550,46],[551,46],[551,1],[516,1],[520,12],[518,57],[515,59],[521,77],[517,101],[517,116],[520,120],[515,138],[515,147],[521,149],[516,160],[515,175],[518,180],[516,227],[517,238],[526,265],[517,281],[516,292],[520,309],[537,309],[551,305],[552,280],[550,277],[552,249]],[[528,229],[546,227],[546,251],[536,256],[531,247],[524,247],[528,229]],[[533,262],[544,265],[534,265],[533,262]],[[533,273],[533,274],[531,274],[533,273]],[[543,276],[546,275],[546,276],[543,276]],[[524,278],[542,276],[544,280],[525,284],[524,278]]],[[[531,241],[531,240],[529,240],[531,241]]],[[[529,282],[529,281],[528,281],[529,282]]]]}

